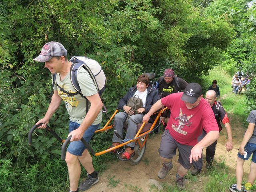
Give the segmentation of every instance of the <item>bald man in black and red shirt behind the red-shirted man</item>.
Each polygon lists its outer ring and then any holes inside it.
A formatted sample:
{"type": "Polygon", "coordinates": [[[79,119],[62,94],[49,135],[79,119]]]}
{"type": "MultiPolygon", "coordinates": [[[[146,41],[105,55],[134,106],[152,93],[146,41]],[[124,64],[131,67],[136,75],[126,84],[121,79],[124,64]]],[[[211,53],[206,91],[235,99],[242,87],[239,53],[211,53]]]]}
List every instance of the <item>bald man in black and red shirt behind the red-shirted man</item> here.
{"type": "MultiPolygon", "coordinates": [[[[215,119],[219,126],[219,131],[222,130],[222,126],[220,121],[224,124],[227,134],[228,134],[228,141],[226,142],[225,146],[227,151],[231,151],[233,149],[233,142],[232,142],[232,130],[229,123],[229,119],[227,116],[226,111],[220,104],[220,102],[216,101],[217,94],[214,90],[209,90],[205,94],[205,100],[210,104],[212,111],[214,112],[215,119]]],[[[198,142],[202,140],[206,136],[206,132],[203,130],[202,135],[198,137],[198,142]]],[[[212,160],[215,155],[217,140],[213,142],[206,148],[206,168],[211,168],[212,160]]],[[[192,175],[197,175],[200,173],[202,166],[203,166],[203,159],[200,158],[197,162],[193,162],[194,169],[190,171],[192,175]]]]}

